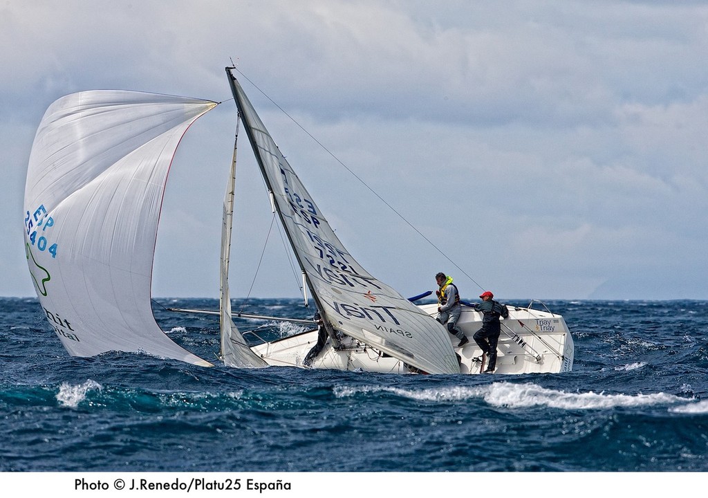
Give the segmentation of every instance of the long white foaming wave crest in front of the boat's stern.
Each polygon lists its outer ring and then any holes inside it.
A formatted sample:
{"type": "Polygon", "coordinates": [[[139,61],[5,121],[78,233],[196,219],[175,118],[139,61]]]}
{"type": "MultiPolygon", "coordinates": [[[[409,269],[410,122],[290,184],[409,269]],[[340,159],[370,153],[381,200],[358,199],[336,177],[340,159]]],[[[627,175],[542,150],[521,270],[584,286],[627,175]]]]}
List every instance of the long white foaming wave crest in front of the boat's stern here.
{"type": "Polygon", "coordinates": [[[418,401],[450,402],[474,398],[493,407],[558,409],[607,409],[617,407],[648,407],[661,404],[685,403],[686,399],[658,392],[651,395],[605,394],[604,392],[564,392],[536,384],[493,383],[476,387],[444,387],[442,389],[410,390],[399,387],[359,386],[336,387],[337,397],[360,393],[390,392],[418,401]]]}

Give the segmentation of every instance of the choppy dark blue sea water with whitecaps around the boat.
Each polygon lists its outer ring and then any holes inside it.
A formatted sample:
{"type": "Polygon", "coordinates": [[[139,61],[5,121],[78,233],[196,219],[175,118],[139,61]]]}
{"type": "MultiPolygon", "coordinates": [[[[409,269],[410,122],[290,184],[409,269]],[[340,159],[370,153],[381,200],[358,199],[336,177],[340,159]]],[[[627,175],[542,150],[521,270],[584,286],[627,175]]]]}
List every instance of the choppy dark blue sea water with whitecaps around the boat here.
{"type": "MultiPolygon", "coordinates": [[[[37,300],[0,298],[0,471],[708,470],[708,302],[546,305],[573,334],[570,373],[226,368],[214,317],[166,310],[216,300],[154,306],[164,331],[215,368],[72,358],[37,300]]],[[[243,311],[313,314],[299,300],[250,300],[243,311]]],[[[265,339],[299,331],[238,324],[265,339]]]]}

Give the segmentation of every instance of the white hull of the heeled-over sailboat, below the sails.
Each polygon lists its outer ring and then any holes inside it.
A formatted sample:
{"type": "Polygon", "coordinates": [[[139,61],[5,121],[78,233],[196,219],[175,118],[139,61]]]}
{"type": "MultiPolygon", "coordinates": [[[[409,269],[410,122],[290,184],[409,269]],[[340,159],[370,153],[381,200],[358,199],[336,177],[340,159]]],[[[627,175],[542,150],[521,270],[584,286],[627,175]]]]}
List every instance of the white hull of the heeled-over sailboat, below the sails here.
{"type": "MultiPolygon", "coordinates": [[[[436,304],[421,305],[421,309],[435,315],[436,304]]],[[[455,349],[460,358],[461,373],[480,373],[481,349],[472,336],[481,327],[481,313],[462,307],[459,327],[469,338],[461,349],[455,349]]],[[[495,373],[560,373],[573,368],[573,338],[561,315],[531,308],[509,307],[509,317],[501,320],[501,336],[497,346],[495,373]]],[[[303,332],[277,341],[253,346],[251,350],[271,366],[299,366],[317,341],[317,331],[303,332]]],[[[450,334],[457,346],[459,339],[450,334]]],[[[342,347],[335,350],[331,341],[314,361],[312,368],[361,370],[382,373],[411,373],[406,364],[384,355],[376,349],[345,337],[342,347]]]]}

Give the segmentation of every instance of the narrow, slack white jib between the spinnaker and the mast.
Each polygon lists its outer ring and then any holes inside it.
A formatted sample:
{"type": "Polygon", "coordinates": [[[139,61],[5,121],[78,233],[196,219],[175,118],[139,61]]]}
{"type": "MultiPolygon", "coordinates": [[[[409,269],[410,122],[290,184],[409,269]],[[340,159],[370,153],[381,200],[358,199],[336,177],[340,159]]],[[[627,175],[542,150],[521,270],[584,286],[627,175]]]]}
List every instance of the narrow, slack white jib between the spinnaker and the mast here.
{"type": "MultiPolygon", "coordinates": [[[[236,128],[236,141],[238,140],[236,128]]],[[[234,220],[234,192],[236,186],[236,143],[231,162],[231,173],[224,195],[224,215],[222,217],[222,245],[219,283],[219,328],[221,330],[221,353],[224,365],[236,368],[263,368],[268,366],[256,356],[244,340],[244,336],[231,318],[231,292],[229,290],[229,261],[231,261],[231,237],[234,220]]]]}

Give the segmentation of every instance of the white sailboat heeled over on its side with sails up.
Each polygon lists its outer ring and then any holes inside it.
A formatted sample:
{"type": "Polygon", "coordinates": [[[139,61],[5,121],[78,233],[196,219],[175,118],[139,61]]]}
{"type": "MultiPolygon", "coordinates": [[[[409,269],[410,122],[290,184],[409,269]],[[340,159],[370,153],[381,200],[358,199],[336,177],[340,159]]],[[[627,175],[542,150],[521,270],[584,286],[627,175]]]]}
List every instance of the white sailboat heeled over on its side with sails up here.
{"type": "MultiPolygon", "coordinates": [[[[347,251],[258,117],[234,68],[226,72],[237,127],[244,124],[319,327],[250,344],[234,324],[229,293],[234,144],[217,312],[224,364],[479,373],[481,350],[474,341],[455,349],[457,339],[435,319],[435,304],[404,298],[347,251]],[[318,339],[325,340],[324,347],[306,365],[318,339]]],[[[161,331],[152,315],[150,288],[169,166],[190,125],[215,106],[198,98],[97,90],[59,98],[47,109],[28,164],[25,252],[40,305],[72,356],[127,351],[212,366],[161,331]]],[[[481,313],[465,307],[459,325],[472,338],[481,313]]],[[[573,339],[561,315],[532,305],[510,310],[496,373],[558,373],[572,365],[573,339]]]]}

